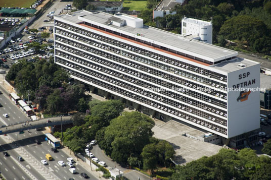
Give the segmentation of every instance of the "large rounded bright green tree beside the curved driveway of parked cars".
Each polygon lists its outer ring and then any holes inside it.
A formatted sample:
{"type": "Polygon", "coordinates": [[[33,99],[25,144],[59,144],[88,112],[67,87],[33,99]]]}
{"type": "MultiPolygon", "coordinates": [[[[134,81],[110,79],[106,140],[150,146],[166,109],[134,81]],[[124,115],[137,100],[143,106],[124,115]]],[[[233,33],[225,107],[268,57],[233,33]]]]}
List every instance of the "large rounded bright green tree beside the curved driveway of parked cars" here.
{"type": "Polygon", "coordinates": [[[126,164],[129,157],[139,156],[149,143],[153,126],[152,119],[140,112],[123,112],[111,120],[99,145],[112,159],[126,164]]]}

